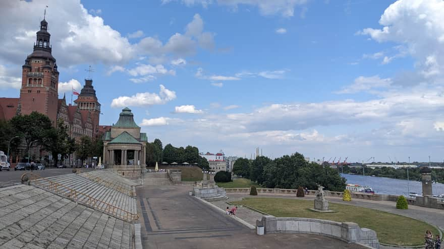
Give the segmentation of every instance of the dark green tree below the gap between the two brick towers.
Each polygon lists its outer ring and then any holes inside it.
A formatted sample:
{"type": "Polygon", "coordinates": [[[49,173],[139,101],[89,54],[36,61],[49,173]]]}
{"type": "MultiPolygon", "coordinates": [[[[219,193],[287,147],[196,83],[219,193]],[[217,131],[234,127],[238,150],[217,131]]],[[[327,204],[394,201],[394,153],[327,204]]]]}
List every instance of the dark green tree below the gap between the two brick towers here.
{"type": "Polygon", "coordinates": [[[61,120],[57,122],[57,127],[45,131],[42,143],[43,148],[52,153],[53,165],[56,167],[59,161],[58,154],[65,158],[76,150],[75,139],[68,136],[68,128],[61,120]]]}

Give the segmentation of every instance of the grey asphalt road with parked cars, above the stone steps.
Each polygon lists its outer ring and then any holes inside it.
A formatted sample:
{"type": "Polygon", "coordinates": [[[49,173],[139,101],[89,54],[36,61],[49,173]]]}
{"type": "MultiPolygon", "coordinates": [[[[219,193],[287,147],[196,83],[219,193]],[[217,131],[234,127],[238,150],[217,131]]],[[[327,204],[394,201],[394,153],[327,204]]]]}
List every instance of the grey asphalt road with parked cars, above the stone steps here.
{"type": "MultiPolygon", "coordinates": [[[[1,171],[0,188],[20,183],[20,178],[26,172],[31,172],[31,171],[14,171],[14,170],[1,171]]],[[[32,173],[37,174],[41,177],[53,177],[53,176],[73,173],[73,169],[45,169],[42,171],[32,171],[32,173]]]]}

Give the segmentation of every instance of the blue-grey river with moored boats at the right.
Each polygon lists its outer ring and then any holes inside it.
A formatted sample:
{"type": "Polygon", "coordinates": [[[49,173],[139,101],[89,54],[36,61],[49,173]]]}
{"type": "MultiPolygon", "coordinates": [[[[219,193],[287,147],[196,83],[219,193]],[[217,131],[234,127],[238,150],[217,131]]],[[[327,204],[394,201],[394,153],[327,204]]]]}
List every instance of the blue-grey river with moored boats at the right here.
{"type": "MultiPolygon", "coordinates": [[[[367,185],[370,186],[375,194],[391,194],[391,195],[405,195],[407,196],[408,187],[410,192],[422,194],[422,183],[417,181],[407,181],[385,177],[371,177],[362,175],[341,174],[347,179],[347,183],[367,185]]],[[[432,185],[434,195],[444,194],[444,184],[435,183],[432,185]]]]}

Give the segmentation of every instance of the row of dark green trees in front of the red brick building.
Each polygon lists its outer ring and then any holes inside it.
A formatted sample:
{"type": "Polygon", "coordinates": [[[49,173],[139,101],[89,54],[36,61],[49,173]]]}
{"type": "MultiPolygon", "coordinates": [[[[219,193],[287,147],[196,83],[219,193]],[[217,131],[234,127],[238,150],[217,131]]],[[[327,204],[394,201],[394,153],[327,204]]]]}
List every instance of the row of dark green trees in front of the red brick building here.
{"type": "Polygon", "coordinates": [[[100,138],[84,136],[76,142],[62,120],[58,120],[53,126],[48,116],[38,112],[0,121],[0,150],[7,152],[10,140],[10,154],[18,154],[22,150],[23,160],[28,156],[30,147],[40,146],[42,150],[52,154],[54,165],[58,164],[58,154],[62,155],[61,158],[66,158],[77,151],[80,158],[86,159],[89,156],[101,156],[103,152],[100,138]]]}

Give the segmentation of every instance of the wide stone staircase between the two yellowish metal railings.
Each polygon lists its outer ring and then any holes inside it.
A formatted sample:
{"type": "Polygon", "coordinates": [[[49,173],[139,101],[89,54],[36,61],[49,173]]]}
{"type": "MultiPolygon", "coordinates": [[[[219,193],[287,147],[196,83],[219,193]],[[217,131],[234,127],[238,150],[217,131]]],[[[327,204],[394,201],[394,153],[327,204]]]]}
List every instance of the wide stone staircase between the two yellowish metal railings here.
{"type": "Polygon", "coordinates": [[[107,186],[107,184],[84,177],[82,174],[36,179],[30,181],[30,185],[68,197],[73,201],[83,203],[123,220],[132,221],[136,219],[135,198],[116,190],[113,186],[107,186]]]}

